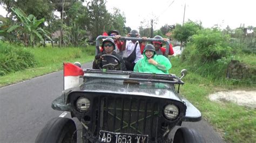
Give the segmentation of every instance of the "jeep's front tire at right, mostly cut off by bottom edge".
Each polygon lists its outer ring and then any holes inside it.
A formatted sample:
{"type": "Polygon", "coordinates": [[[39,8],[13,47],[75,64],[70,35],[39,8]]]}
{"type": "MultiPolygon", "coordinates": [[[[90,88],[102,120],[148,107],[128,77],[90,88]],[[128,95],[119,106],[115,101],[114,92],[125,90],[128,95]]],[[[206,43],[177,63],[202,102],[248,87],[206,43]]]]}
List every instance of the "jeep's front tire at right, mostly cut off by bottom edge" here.
{"type": "Polygon", "coordinates": [[[174,134],[173,143],[203,143],[205,139],[191,128],[180,127],[174,134]]]}

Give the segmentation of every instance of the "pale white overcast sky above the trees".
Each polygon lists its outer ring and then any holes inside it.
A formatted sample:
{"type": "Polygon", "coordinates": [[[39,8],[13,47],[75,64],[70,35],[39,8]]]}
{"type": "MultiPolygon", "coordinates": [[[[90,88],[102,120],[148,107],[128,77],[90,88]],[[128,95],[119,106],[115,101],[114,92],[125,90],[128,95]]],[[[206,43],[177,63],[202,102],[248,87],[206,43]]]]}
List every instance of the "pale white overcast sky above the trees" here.
{"type": "MultiPolygon", "coordinates": [[[[255,0],[106,0],[106,8],[110,12],[113,7],[119,8],[126,17],[126,26],[138,29],[144,19],[150,23],[153,18],[158,29],[165,24],[182,24],[184,5],[186,3],[185,22],[188,19],[201,21],[204,27],[215,24],[225,28],[239,27],[240,24],[256,26],[256,1],[255,0]],[[157,19],[154,19],[158,17],[157,19]]],[[[6,12],[0,8],[0,15],[6,12]]]]}

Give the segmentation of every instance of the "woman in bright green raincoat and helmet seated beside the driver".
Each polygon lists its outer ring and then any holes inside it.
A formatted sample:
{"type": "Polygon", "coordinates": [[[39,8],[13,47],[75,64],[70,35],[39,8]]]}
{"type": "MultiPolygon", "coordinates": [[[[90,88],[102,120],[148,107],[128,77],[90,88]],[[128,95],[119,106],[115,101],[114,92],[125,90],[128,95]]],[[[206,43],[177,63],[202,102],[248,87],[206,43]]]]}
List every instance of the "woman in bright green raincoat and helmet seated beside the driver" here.
{"type": "Polygon", "coordinates": [[[143,51],[143,59],[137,61],[133,71],[142,73],[169,74],[172,64],[163,55],[156,55],[152,44],[147,44],[143,51]]]}

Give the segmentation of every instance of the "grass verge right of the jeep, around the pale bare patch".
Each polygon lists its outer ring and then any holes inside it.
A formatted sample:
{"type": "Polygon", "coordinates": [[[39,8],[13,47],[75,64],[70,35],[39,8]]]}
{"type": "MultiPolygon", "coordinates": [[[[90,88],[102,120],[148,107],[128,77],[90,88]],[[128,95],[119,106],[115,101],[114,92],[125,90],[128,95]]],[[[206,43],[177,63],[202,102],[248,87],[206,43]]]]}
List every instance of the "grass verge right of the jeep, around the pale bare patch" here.
{"type": "MultiPolygon", "coordinates": [[[[181,69],[186,68],[178,58],[171,58],[173,67],[170,73],[180,76],[181,69]]],[[[185,84],[180,89],[184,95],[202,113],[222,138],[227,142],[256,142],[256,110],[245,108],[230,102],[212,102],[208,95],[222,90],[256,90],[250,85],[234,85],[232,82],[212,81],[211,77],[202,77],[190,73],[183,78],[185,84]]]]}

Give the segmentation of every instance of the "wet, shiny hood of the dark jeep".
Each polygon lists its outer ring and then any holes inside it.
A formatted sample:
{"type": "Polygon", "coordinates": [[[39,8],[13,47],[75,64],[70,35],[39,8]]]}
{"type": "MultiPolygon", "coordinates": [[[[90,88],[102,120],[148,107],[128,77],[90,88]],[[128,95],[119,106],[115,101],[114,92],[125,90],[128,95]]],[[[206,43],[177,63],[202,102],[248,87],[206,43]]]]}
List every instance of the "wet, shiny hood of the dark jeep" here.
{"type": "Polygon", "coordinates": [[[167,83],[133,81],[124,83],[123,80],[96,79],[84,82],[80,85],[79,90],[84,92],[151,96],[181,102],[179,96],[176,95],[174,86],[167,83]]]}

